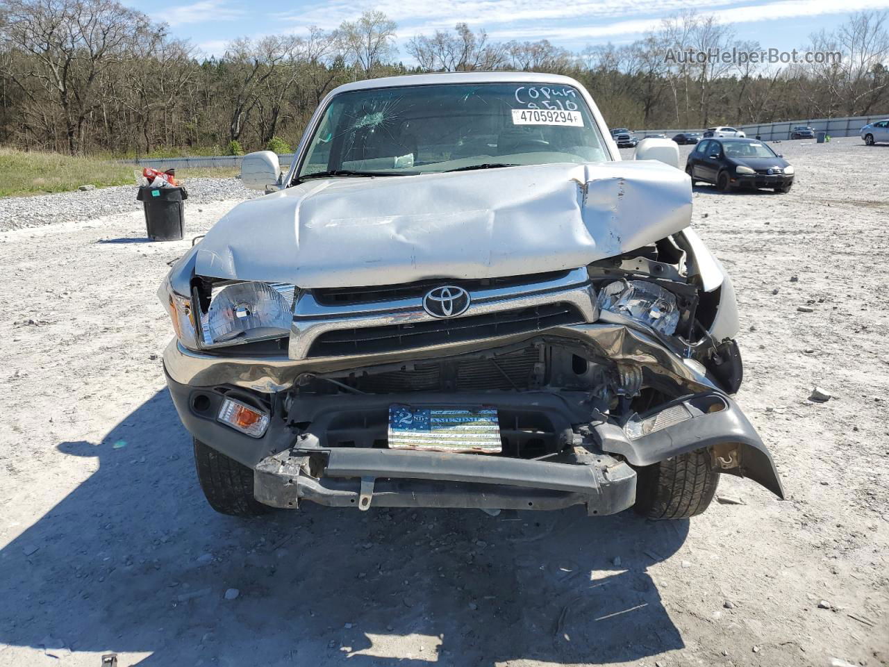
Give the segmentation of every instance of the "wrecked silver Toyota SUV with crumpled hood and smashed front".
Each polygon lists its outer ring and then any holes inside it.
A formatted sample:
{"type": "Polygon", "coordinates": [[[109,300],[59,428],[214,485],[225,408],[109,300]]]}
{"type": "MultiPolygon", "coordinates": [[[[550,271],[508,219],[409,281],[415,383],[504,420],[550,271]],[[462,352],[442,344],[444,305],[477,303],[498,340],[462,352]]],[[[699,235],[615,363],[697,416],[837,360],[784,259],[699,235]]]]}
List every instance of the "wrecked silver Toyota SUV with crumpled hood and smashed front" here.
{"type": "Polygon", "coordinates": [[[782,497],[675,144],[636,157],[581,84],[533,73],[347,84],[287,173],[245,157],[268,194],[160,290],[213,509],[685,518],[723,473],[782,497]]]}

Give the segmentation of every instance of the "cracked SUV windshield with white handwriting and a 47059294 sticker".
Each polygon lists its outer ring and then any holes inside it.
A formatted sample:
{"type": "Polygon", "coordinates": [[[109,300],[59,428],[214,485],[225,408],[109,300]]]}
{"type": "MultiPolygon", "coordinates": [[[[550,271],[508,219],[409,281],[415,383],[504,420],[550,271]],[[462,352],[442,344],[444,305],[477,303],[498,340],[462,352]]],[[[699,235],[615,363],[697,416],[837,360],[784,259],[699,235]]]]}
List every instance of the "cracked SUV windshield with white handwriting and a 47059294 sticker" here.
{"type": "Polygon", "coordinates": [[[581,93],[555,84],[436,84],[342,92],[299,178],[611,159],[581,93]]]}

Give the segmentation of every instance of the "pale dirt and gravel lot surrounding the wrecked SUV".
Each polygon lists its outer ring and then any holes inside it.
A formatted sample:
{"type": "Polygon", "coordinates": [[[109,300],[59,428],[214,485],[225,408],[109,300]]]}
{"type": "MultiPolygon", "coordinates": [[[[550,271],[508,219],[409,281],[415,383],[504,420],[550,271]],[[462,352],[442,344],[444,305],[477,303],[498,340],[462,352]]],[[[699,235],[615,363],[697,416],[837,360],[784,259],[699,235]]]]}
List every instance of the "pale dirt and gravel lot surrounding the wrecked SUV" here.
{"type": "Polygon", "coordinates": [[[889,663],[889,146],[781,150],[790,194],[701,187],[694,226],[789,499],[724,478],[742,504],[691,521],[214,514],[159,358],[189,242],[140,213],[0,234],[0,665],[889,663]]]}

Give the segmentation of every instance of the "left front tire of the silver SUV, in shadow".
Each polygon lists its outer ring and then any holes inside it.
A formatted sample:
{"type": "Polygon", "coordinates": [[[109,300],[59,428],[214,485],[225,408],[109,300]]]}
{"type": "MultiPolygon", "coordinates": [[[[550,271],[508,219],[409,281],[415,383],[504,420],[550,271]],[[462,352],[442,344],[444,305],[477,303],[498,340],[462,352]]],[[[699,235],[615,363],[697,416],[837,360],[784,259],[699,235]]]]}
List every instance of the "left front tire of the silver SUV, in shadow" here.
{"type": "Polygon", "coordinates": [[[213,510],[235,517],[258,517],[272,508],[253,497],[253,471],[195,438],[197,481],[213,510]]]}

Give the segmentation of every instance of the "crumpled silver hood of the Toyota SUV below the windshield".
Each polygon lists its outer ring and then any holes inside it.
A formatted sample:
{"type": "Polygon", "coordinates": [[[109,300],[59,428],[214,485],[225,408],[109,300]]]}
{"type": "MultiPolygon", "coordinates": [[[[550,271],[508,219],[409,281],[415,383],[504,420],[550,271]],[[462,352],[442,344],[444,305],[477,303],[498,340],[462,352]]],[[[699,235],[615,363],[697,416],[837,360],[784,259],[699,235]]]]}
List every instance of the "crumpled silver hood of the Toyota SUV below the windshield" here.
{"type": "Polygon", "coordinates": [[[655,161],[307,181],[237,205],[196,274],[303,288],[574,269],[685,229],[691,182],[655,161]]]}

